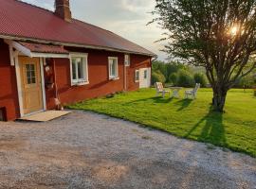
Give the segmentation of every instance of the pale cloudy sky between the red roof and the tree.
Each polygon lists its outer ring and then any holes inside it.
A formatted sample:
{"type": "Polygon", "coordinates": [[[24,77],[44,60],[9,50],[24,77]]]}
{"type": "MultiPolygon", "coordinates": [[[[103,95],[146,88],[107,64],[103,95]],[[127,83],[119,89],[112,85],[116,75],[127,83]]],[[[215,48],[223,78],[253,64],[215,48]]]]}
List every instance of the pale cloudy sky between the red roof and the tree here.
{"type": "MultiPolygon", "coordinates": [[[[54,9],[54,0],[23,1],[54,9]]],[[[111,30],[155,52],[159,60],[166,59],[166,54],[159,51],[163,43],[154,43],[161,38],[162,30],[156,25],[146,26],[153,19],[149,12],[155,0],[70,0],[70,4],[74,18],[111,30]]]]}

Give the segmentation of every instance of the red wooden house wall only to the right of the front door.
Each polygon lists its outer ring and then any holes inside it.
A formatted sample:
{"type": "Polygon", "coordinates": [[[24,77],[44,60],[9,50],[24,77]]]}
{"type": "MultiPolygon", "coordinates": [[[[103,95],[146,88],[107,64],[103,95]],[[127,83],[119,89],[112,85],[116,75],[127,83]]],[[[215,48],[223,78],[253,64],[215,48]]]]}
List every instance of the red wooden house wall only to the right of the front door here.
{"type": "MultiPolygon", "coordinates": [[[[66,59],[54,59],[56,83],[58,94],[63,104],[70,104],[88,98],[95,98],[106,94],[124,91],[124,54],[100,50],[78,48],[69,49],[73,52],[88,53],[88,77],[89,84],[83,86],[71,86],[70,84],[70,62],[66,59]],[[119,58],[119,79],[108,79],[108,57],[119,58]]],[[[135,70],[141,67],[150,67],[151,59],[145,56],[132,55],[131,66],[127,67],[127,89],[137,90],[138,83],[135,82],[135,70]]],[[[53,109],[54,89],[46,91],[47,108],[53,109]]]]}

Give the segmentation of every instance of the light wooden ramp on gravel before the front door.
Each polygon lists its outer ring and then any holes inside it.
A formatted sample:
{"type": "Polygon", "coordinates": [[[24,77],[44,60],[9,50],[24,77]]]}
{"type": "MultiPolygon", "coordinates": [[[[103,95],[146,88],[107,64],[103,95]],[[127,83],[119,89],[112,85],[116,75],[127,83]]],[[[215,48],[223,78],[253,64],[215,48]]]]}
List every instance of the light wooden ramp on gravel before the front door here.
{"type": "Polygon", "coordinates": [[[23,121],[36,121],[36,122],[46,122],[58,117],[64,116],[70,112],[67,111],[46,111],[46,112],[38,112],[32,115],[28,115],[20,118],[23,121]]]}

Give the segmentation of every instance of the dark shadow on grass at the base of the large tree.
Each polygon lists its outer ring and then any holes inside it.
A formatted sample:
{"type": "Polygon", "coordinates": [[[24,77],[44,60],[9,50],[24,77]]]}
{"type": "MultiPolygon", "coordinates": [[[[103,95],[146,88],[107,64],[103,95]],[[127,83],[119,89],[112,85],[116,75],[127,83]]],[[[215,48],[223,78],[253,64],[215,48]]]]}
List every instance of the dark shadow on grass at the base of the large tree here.
{"type": "MultiPolygon", "coordinates": [[[[190,135],[192,135],[192,132],[196,129],[201,129],[197,137],[198,141],[209,142],[217,146],[226,146],[223,113],[213,112],[212,107],[210,107],[208,114],[200,119],[184,137],[190,138],[190,135]]],[[[195,134],[195,136],[197,136],[197,134],[195,134]]]]}

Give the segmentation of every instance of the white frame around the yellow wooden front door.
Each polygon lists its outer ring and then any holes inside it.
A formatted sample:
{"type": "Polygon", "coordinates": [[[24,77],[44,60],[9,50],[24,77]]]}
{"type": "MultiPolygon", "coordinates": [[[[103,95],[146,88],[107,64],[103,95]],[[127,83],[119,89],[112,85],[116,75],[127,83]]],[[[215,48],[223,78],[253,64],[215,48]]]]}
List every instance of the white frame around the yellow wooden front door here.
{"type": "MultiPolygon", "coordinates": [[[[44,63],[46,62],[46,59],[45,58],[38,58],[38,59],[39,59],[39,64],[40,64],[41,87],[42,87],[42,98],[43,98],[43,109],[38,112],[44,112],[44,111],[46,111],[46,88],[45,88],[45,74],[44,74],[44,63]]],[[[37,112],[31,112],[31,113],[27,113],[27,114],[24,113],[22,82],[21,82],[21,74],[20,74],[21,67],[20,67],[20,62],[19,62],[19,56],[15,56],[15,71],[16,71],[20,116],[24,117],[27,115],[37,113],[37,112]]]]}

